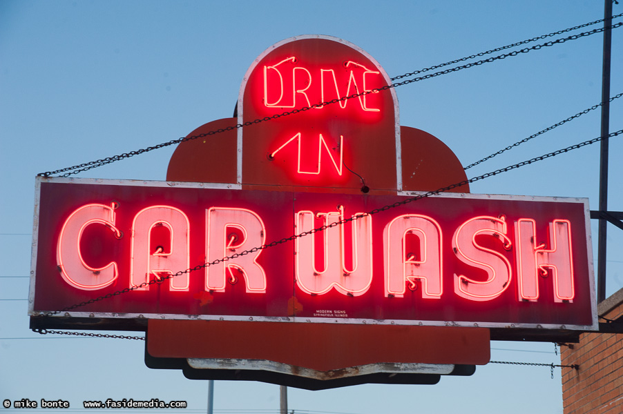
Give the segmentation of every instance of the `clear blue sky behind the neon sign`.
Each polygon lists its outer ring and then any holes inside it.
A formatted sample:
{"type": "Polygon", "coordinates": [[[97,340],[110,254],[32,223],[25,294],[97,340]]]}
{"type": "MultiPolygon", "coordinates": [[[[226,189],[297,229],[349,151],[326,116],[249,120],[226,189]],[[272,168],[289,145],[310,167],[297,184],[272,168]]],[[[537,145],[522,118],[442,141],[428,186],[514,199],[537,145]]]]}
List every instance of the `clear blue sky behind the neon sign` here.
{"type": "MultiPolygon", "coordinates": [[[[623,12],[614,5],[614,13],[623,12]]],[[[0,1],[0,400],[186,400],[204,411],[207,382],[143,363],[142,342],[39,337],[28,330],[35,175],[183,137],[231,117],[262,51],[298,34],[366,50],[390,77],[603,17],[602,1],[0,1]],[[18,338],[34,339],[18,339],[18,338]]],[[[593,26],[597,27],[597,26],[593,26]]],[[[590,28],[585,29],[590,30],[590,28]]],[[[613,31],[611,95],[623,92],[613,31]]],[[[430,132],[463,165],[599,103],[602,35],[396,89],[401,125],[430,132]]],[[[611,105],[622,128],[623,100],[611,105]]],[[[600,135],[599,111],[468,170],[495,170],[600,135]]],[[[610,144],[611,210],[622,210],[621,139],[610,144]]],[[[173,148],[79,177],[164,180],[173,148]]],[[[599,146],[472,185],[472,193],[588,197],[597,209],[599,146]]],[[[597,226],[593,222],[593,237],[597,226]]],[[[623,288],[623,232],[608,228],[608,295],[623,288]]],[[[596,250],[596,245],[595,245],[596,250]]],[[[492,359],[559,363],[553,344],[492,342],[492,359]],[[508,351],[518,350],[518,351],[508,351]]],[[[278,409],[278,386],[217,382],[215,410],[278,409]]],[[[435,386],[289,392],[296,411],[562,413],[560,370],[480,366],[435,386]],[[512,404],[508,404],[512,401],[512,404]]],[[[194,412],[194,411],[193,411],[194,412]]],[[[226,412],[226,411],[221,411],[226,412]]],[[[229,411],[234,412],[234,411],[229,411]]]]}

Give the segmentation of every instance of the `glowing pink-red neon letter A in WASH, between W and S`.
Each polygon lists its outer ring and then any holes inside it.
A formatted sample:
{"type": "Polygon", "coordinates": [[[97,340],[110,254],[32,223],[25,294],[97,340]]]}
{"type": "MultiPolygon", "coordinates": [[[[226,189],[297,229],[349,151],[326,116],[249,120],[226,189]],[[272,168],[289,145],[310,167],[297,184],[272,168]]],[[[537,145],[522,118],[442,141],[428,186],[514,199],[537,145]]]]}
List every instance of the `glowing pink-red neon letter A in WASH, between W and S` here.
{"type": "Polygon", "coordinates": [[[383,230],[385,248],[385,297],[403,297],[407,282],[422,280],[422,297],[439,299],[441,285],[441,227],[430,217],[409,214],[390,221],[383,230]],[[415,235],[419,257],[407,250],[407,235],[415,235]]]}

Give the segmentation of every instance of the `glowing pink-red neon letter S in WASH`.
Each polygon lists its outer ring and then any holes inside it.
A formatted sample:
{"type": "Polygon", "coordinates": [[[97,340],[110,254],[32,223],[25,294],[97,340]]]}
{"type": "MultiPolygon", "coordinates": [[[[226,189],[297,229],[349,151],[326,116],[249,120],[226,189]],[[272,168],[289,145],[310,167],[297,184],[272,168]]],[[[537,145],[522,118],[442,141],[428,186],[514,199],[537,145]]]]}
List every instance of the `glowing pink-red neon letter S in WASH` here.
{"type": "Polygon", "coordinates": [[[485,301],[495,299],[508,288],[511,270],[504,255],[477,244],[476,237],[479,235],[497,237],[506,250],[510,250],[512,244],[506,237],[506,221],[496,217],[474,217],[461,224],[454,233],[452,248],[459,260],[487,273],[484,282],[455,273],[454,292],[466,299],[485,301]]]}

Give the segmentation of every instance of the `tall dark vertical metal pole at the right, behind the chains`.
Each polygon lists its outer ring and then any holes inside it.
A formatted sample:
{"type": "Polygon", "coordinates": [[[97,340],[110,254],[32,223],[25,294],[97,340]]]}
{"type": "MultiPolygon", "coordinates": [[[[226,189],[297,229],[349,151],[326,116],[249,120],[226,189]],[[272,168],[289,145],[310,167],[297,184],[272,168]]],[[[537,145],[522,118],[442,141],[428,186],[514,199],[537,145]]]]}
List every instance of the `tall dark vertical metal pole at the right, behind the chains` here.
{"type": "MultiPolygon", "coordinates": [[[[604,28],[612,26],[612,0],[605,0],[604,28]]],[[[601,136],[610,133],[610,53],[612,29],[604,30],[604,53],[602,61],[602,130],[601,136]]],[[[601,141],[600,154],[600,212],[608,210],[608,138],[601,141]]],[[[608,221],[599,221],[597,245],[597,302],[606,299],[606,226],[608,221]]]]}

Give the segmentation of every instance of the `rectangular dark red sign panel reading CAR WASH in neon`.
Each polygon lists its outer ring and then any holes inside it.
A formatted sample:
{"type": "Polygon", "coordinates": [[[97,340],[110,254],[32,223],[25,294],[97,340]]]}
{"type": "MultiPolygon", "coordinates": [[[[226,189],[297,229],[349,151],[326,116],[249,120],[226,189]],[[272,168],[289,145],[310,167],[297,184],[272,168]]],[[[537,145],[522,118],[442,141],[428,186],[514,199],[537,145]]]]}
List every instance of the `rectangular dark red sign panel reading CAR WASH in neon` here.
{"type": "Polygon", "coordinates": [[[39,178],[30,314],[596,326],[586,199],[210,186],[39,178]]]}

